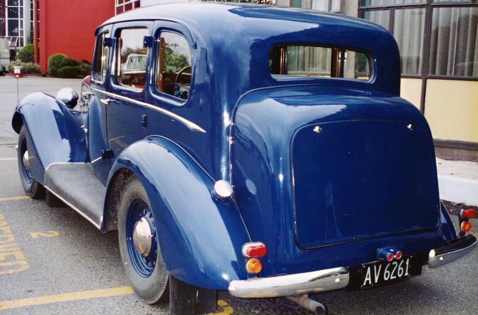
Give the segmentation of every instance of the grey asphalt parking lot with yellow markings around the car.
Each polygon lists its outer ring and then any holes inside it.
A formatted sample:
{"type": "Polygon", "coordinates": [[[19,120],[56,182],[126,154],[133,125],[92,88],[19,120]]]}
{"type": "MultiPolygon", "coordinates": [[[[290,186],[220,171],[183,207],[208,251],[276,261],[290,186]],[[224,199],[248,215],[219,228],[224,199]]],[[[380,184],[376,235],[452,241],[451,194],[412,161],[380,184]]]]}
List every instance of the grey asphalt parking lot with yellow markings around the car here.
{"type": "MultiPolygon", "coordinates": [[[[69,208],[24,196],[14,148],[18,135],[11,128],[17,84],[21,99],[36,91],[56,95],[63,87],[79,93],[81,80],[0,77],[0,314],[169,314],[167,305],[149,306],[132,293],[116,232],[101,234],[69,208]]],[[[441,175],[474,180],[474,164],[463,171],[460,163],[437,163],[441,175]]],[[[471,221],[477,234],[478,220],[471,221]]],[[[397,284],[311,297],[332,315],[476,315],[477,282],[475,250],[444,267],[425,266],[421,276],[397,284]]],[[[219,299],[217,314],[312,314],[284,298],[236,299],[221,291],[219,299]]]]}

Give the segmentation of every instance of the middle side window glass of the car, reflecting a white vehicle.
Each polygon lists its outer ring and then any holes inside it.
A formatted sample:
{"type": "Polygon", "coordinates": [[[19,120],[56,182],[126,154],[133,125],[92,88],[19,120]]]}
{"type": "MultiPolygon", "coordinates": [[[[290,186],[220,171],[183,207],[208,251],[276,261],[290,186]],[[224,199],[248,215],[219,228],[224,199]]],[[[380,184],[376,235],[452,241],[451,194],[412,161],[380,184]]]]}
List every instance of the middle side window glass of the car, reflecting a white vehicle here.
{"type": "Polygon", "coordinates": [[[122,29],[118,36],[116,82],[136,90],[143,90],[146,81],[148,48],[143,46],[148,29],[122,29]]]}

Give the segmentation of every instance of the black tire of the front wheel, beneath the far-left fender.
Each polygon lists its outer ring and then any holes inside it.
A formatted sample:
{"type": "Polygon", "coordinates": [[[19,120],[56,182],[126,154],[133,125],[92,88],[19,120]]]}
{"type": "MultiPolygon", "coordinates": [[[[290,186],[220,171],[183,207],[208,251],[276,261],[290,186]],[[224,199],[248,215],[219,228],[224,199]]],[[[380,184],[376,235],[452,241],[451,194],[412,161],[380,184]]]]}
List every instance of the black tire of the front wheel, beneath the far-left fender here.
{"type": "Polygon", "coordinates": [[[29,197],[42,199],[45,197],[45,188],[33,177],[29,165],[24,164],[24,155],[27,151],[26,131],[25,125],[23,125],[19,134],[19,147],[17,150],[21,185],[29,197]]]}

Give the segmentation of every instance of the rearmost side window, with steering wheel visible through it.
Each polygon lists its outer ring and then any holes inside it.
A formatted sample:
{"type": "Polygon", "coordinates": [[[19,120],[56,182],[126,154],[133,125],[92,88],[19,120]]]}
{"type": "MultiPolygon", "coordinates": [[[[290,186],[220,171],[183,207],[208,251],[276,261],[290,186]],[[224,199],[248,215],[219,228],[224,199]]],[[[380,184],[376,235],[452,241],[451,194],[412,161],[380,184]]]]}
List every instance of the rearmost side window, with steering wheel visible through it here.
{"type": "Polygon", "coordinates": [[[158,41],[157,90],[187,100],[191,73],[191,53],[186,38],[178,33],[161,32],[158,41]]]}

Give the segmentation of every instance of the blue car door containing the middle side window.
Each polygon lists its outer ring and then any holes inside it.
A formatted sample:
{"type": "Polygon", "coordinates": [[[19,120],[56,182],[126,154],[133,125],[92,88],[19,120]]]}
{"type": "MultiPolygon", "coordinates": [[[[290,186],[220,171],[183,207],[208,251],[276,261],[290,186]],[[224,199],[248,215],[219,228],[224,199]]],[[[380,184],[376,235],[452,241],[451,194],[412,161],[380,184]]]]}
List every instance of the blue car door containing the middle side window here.
{"type": "Polygon", "coordinates": [[[115,44],[107,104],[108,148],[111,161],[146,135],[144,111],[148,58],[153,22],[115,24],[115,44]]]}

